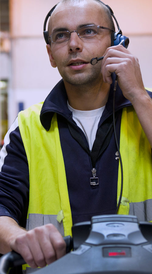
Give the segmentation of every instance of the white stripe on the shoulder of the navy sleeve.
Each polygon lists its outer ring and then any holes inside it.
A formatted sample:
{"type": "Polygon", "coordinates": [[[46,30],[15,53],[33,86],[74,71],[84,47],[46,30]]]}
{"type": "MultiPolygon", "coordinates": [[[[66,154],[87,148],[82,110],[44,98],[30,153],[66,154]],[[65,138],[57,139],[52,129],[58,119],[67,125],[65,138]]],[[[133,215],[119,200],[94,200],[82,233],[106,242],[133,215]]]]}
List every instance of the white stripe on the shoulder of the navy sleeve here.
{"type": "Polygon", "coordinates": [[[19,126],[18,124],[18,117],[15,119],[14,123],[11,125],[11,127],[9,128],[8,132],[6,133],[5,137],[4,137],[4,146],[2,147],[1,151],[0,151],[0,171],[2,170],[2,166],[4,164],[4,159],[7,156],[7,151],[6,151],[6,146],[9,144],[10,142],[10,138],[9,135],[12,131],[14,131],[17,127],[19,126]]]}

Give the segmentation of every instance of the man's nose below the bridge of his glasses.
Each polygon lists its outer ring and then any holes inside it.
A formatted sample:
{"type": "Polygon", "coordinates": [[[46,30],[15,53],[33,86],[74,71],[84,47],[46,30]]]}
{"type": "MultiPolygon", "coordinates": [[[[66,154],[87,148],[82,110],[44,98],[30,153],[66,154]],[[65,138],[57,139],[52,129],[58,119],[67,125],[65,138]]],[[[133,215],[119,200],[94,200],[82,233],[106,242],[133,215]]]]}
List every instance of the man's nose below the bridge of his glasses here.
{"type": "Polygon", "coordinates": [[[69,40],[69,46],[68,46],[68,51],[71,52],[77,52],[77,51],[82,51],[82,44],[83,41],[81,40],[80,37],[78,37],[77,32],[72,32],[71,37],[69,40]]]}

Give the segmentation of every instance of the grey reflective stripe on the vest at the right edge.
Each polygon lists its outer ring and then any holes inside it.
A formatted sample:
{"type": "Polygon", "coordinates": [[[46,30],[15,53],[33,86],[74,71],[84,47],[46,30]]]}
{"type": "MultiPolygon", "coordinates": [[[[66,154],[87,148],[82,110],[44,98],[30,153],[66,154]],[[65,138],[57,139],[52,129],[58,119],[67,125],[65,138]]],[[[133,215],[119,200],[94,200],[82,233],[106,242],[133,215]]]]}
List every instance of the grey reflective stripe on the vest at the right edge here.
{"type": "Polygon", "coordinates": [[[139,221],[152,221],[152,199],[129,203],[129,215],[137,216],[139,221]]]}

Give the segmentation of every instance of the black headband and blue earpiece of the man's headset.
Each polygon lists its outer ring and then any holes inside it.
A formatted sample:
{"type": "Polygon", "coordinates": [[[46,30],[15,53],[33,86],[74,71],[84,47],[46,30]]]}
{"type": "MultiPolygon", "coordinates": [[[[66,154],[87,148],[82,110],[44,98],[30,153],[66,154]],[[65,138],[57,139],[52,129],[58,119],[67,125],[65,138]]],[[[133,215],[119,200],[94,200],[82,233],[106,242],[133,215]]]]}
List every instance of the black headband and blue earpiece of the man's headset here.
{"type": "MultiPolygon", "coordinates": [[[[105,6],[109,9],[109,11],[110,11],[112,17],[114,18],[114,20],[115,20],[115,22],[116,22],[117,27],[118,27],[118,31],[117,31],[117,32],[114,31],[114,32],[112,32],[112,34],[111,34],[111,46],[117,46],[117,45],[119,45],[119,44],[122,44],[124,47],[127,48],[128,45],[129,45],[129,38],[123,35],[123,33],[122,33],[122,31],[121,31],[121,29],[120,29],[120,27],[119,27],[119,24],[118,24],[118,22],[117,22],[117,19],[116,19],[116,17],[115,17],[114,14],[113,14],[112,9],[111,9],[108,5],[106,5],[105,3],[103,3],[102,1],[100,1],[100,0],[97,0],[97,1],[98,1],[98,2],[101,2],[103,5],[105,5],[105,6]]],[[[59,4],[59,3],[58,3],[58,4],[59,4]]],[[[46,18],[45,18],[45,21],[44,21],[43,35],[44,35],[45,42],[46,42],[47,44],[50,44],[50,43],[49,43],[49,40],[48,40],[48,31],[46,30],[47,20],[48,20],[48,18],[51,16],[52,12],[54,11],[54,9],[56,8],[56,6],[57,6],[58,4],[56,4],[56,5],[48,12],[48,14],[47,14],[47,16],[46,16],[46,18]]]]}

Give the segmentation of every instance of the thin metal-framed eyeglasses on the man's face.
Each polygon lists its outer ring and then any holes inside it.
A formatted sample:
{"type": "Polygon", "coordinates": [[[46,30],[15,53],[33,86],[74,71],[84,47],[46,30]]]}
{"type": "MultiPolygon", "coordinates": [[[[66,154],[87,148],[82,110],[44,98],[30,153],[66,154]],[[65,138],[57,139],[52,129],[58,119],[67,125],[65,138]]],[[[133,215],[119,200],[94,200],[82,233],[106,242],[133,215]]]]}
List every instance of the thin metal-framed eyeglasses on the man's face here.
{"type": "Polygon", "coordinates": [[[52,43],[63,43],[70,39],[72,32],[77,32],[78,37],[80,38],[89,38],[91,36],[96,35],[98,33],[98,29],[112,30],[110,28],[106,28],[103,26],[89,25],[89,26],[83,26],[81,28],[78,28],[78,30],[74,30],[71,32],[68,30],[56,31],[48,37],[48,40],[49,42],[51,40],[52,43]]]}

